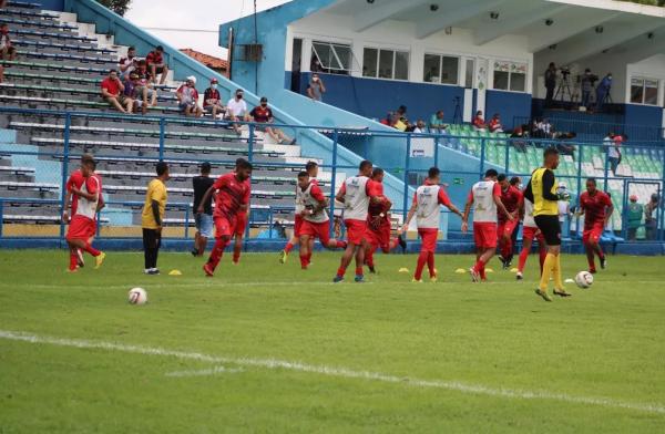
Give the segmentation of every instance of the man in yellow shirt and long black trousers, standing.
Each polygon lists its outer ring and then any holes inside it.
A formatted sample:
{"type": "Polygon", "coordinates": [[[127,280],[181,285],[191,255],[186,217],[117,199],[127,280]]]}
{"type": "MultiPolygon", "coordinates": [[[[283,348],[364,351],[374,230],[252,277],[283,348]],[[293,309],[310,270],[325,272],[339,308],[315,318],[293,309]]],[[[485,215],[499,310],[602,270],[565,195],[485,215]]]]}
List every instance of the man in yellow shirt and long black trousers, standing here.
{"type": "Polygon", "coordinates": [[[168,180],[168,165],[157,163],[157,177],[150,182],[145,193],[145,205],[141,214],[143,228],[143,255],[145,258],[145,273],[158,275],[157,255],[162,246],[162,226],[166,210],[166,180],[168,180]]]}

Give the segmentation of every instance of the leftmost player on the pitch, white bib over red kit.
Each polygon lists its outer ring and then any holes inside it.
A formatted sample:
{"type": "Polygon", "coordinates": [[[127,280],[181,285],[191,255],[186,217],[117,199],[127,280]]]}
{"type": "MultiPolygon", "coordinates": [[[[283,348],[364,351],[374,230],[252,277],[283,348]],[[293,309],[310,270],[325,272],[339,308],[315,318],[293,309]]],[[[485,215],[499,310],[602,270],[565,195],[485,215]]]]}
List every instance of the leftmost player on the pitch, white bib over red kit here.
{"type": "Polygon", "coordinates": [[[78,270],[78,249],[86,251],[95,258],[95,268],[100,268],[106,257],[104,252],[96,250],[89,242],[90,237],[95,231],[96,224],[94,218],[102,194],[100,180],[94,176],[94,161],[85,159],[85,163],[81,164],[83,184],[80,188],[71,186],[71,193],[75,195],[78,199],[75,214],[72,216],[66,231],[66,242],[70,246],[70,272],[78,270]]]}

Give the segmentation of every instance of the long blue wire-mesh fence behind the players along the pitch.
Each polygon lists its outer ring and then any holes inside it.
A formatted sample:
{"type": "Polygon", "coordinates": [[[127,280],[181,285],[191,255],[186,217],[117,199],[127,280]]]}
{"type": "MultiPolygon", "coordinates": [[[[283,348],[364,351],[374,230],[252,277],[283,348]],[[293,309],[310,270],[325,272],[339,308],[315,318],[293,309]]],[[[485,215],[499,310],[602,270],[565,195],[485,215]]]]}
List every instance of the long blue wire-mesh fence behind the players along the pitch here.
{"type": "MultiPolygon", "coordinates": [[[[164,235],[174,239],[190,238],[194,224],[191,177],[202,162],[212,163],[214,174],[219,174],[229,172],[235,158],[241,156],[255,165],[253,178],[258,186],[253,197],[247,239],[278,236],[279,231],[274,230],[276,223],[290,226],[296,174],[308,158],[318,159],[324,172],[325,189],[330,197],[329,214],[334,216],[330,230],[334,230],[340,215],[334,200],[335,186],[357,170],[355,166],[338,164],[339,151],[345,147],[361,156],[380,156],[380,149],[370,149],[369,143],[377,146],[385,138],[392,144],[403,143],[399,158],[403,164],[383,167],[388,176],[403,183],[401,189],[387,192],[395,204],[396,220],[406,217],[413,187],[422,183],[430,166],[442,170],[449,195],[462,208],[472,183],[487,168],[521,176],[525,185],[530,173],[540,165],[542,149],[554,145],[562,153],[557,178],[567,183],[573,209],[584,189],[584,179],[595,176],[601,188],[612,193],[617,208],[608,235],[627,239],[628,236],[634,238],[633,232],[636,232],[637,240],[663,239],[662,203],[654,209],[654,220],[645,221],[643,217],[637,228],[631,227],[636,230],[628,231],[627,213],[628,196],[637,195],[645,205],[652,194],[661,195],[665,172],[662,148],[624,145],[624,162],[614,172],[602,143],[509,138],[462,126],[451,126],[456,133],[452,135],[273,124],[296,140],[313,131],[331,140],[329,154],[298,156],[291,152],[297,149],[295,147],[270,144],[263,132],[265,125],[239,124],[243,133],[237,136],[233,125],[224,121],[0,107],[0,127],[3,128],[0,131],[3,159],[0,174],[9,179],[0,182],[0,219],[3,221],[0,237],[62,241],[65,232],[60,218],[65,197],[63,186],[84,153],[93,153],[103,167],[100,172],[108,206],[98,219],[101,238],[140,237],[145,185],[158,161],[168,162],[174,174],[168,185],[173,199],[167,208],[164,235]],[[272,176],[272,173],[278,175],[272,176]]],[[[393,148],[390,152],[395,152],[393,148]]],[[[441,213],[444,236],[463,239],[459,234],[459,219],[449,219],[447,210],[441,213]]],[[[566,234],[575,238],[580,227],[577,218],[563,214],[562,219],[566,234]]]]}

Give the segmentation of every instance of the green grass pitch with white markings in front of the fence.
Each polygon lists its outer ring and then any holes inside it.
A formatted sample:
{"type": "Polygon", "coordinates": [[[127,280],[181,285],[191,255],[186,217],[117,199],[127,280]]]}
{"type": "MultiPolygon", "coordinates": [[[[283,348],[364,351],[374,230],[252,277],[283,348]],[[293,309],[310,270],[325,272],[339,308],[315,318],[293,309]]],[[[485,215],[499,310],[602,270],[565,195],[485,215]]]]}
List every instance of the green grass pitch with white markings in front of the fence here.
{"type": "Polygon", "coordinates": [[[454,273],[469,256],[437,256],[438,283],[378,256],[362,285],[331,283],[339,254],[226,255],[213,279],[142,259],[68,275],[63,251],[0,251],[0,433],[664,432],[662,257],[610,257],[552,303],[536,256],[483,285],[454,273]]]}

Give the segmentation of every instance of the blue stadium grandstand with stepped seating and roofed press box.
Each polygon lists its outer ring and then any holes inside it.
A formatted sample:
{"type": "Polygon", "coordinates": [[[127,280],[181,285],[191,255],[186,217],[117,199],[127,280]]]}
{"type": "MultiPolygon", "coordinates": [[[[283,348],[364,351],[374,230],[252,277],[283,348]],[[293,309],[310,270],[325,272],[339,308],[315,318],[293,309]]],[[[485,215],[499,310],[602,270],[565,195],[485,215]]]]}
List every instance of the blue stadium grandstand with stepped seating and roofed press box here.
{"type": "MultiPolygon", "coordinates": [[[[360,161],[385,168],[397,228],[429,167],[441,168],[450,197],[462,205],[485,169],[521,176],[525,185],[543,149],[556,146],[557,177],[573,208],[589,176],[612,194],[617,211],[603,239],[620,251],[663,252],[663,8],[611,0],[294,0],[221,23],[228,78],[92,0],[9,1],[0,24],[16,49],[1,60],[0,246],[62,242],[63,186],[86,153],[104,179],[100,242],[139,246],[146,184],[165,161],[172,180],[164,237],[173,248],[188,246],[198,166],[209,162],[216,175],[244,157],[255,166],[247,246],[278,250],[286,235],[275,228],[290,231],[296,175],[308,161],[321,167],[331,197],[360,161]],[[137,58],[161,46],[168,72],[144,83],[154,103],[123,114],[101,86],[111,70],[125,80],[120,65],[130,46],[137,58]],[[245,120],[184,116],[181,84],[192,81],[201,95],[193,104],[203,105],[213,79],[224,103],[236,90],[248,108],[266,96],[274,126],[295,144],[245,120]],[[628,237],[633,196],[644,211],[628,237]]],[[[331,200],[331,215],[339,207],[331,200]]],[[[562,219],[574,249],[576,218],[566,211],[562,219]]],[[[441,231],[443,251],[472,249],[447,211],[441,231]]]]}

